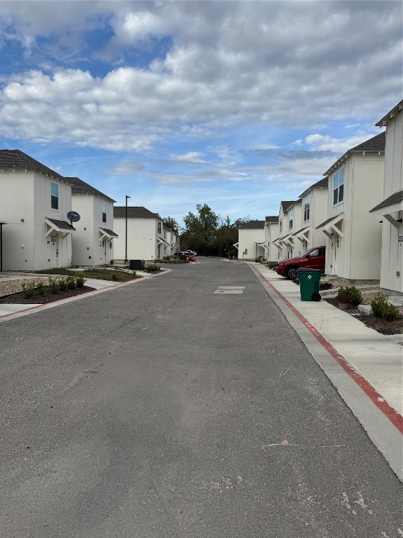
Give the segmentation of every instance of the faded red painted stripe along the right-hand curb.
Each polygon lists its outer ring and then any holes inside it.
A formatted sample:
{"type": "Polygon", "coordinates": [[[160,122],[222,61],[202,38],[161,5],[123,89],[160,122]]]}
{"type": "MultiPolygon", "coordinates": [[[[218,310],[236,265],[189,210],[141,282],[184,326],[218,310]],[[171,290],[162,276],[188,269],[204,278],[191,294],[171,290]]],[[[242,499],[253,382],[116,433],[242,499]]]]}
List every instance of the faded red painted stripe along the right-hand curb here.
{"type": "Polygon", "coordinates": [[[304,317],[295,306],[293,306],[288,299],[286,299],[283,294],[276,289],[267,278],[265,278],[262,273],[260,273],[259,270],[257,270],[253,265],[250,265],[250,267],[262,277],[264,282],[266,282],[269,287],[273,291],[276,292],[276,294],[282,299],[282,301],[292,310],[292,313],[295,314],[295,316],[299,319],[304,326],[306,326],[306,329],[308,329],[313,336],[315,336],[316,340],[323,345],[325,350],[332,355],[332,357],[340,364],[341,368],[344,369],[348,375],[357,383],[357,385],[362,389],[365,394],[371,399],[377,408],[379,408],[380,411],[392,422],[392,424],[399,430],[401,434],[403,434],[403,417],[398,413],[392,406],[389,405],[389,403],[386,401],[386,399],[383,398],[382,394],[379,394],[379,392],[365,379],[362,377],[360,373],[358,373],[357,370],[355,370],[354,366],[348,362],[348,360],[343,357],[333,346],[330,342],[326,340],[326,338],[320,334],[319,331],[315,329],[313,325],[309,323],[309,321],[304,317]]]}

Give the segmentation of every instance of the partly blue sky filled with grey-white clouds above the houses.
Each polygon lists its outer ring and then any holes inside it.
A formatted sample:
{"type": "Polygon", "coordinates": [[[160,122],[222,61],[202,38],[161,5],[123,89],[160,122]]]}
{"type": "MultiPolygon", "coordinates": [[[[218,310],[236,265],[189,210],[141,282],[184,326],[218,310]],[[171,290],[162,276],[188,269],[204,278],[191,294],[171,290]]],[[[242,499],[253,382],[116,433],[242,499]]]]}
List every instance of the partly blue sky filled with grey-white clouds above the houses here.
{"type": "Polygon", "coordinates": [[[0,147],[180,223],[278,214],[402,99],[402,2],[1,1],[0,147]]]}

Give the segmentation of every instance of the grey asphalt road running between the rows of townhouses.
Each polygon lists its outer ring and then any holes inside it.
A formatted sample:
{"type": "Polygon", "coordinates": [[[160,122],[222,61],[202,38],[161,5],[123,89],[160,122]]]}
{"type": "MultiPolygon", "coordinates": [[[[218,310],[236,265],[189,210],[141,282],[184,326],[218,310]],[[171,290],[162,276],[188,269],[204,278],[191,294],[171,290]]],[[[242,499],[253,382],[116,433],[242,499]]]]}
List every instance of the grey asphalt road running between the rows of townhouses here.
{"type": "Polygon", "coordinates": [[[0,402],[1,538],[403,536],[402,484],[243,263],[1,324],[0,402]]]}

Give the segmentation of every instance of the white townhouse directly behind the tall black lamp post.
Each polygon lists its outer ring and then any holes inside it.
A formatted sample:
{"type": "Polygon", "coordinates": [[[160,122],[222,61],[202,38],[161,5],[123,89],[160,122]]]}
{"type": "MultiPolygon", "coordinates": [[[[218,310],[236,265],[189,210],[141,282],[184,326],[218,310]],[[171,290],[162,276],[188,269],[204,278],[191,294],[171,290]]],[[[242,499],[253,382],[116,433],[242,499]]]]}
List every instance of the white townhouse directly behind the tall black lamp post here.
{"type": "Polygon", "coordinates": [[[116,259],[153,261],[167,256],[164,252],[169,245],[164,239],[162,219],[146,207],[113,207],[113,230],[118,234],[114,240],[116,259]]]}

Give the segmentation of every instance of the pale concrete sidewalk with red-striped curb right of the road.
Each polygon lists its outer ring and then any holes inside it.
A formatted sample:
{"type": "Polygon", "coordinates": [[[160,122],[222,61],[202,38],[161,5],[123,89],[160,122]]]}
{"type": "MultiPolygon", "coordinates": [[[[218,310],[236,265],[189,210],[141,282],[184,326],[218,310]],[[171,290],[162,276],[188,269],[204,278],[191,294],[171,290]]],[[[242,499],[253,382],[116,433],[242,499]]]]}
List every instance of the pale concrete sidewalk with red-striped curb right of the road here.
{"type": "Polygon", "coordinates": [[[403,480],[403,347],[326,301],[301,301],[299,286],[249,263],[267,293],[403,480]]]}

